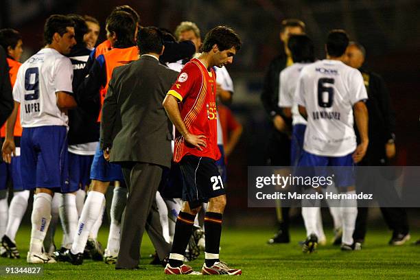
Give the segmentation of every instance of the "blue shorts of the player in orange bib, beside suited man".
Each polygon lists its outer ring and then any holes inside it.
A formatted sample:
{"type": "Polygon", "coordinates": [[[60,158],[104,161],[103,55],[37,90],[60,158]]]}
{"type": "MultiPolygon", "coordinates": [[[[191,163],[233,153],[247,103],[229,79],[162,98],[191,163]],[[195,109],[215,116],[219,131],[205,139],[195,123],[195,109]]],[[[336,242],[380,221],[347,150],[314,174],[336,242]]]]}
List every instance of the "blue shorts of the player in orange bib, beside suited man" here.
{"type": "Polygon", "coordinates": [[[95,156],[93,157],[91,167],[91,179],[100,180],[102,182],[124,181],[121,165],[115,163],[108,163],[104,159],[104,151],[100,149],[100,144],[97,144],[95,156]]]}

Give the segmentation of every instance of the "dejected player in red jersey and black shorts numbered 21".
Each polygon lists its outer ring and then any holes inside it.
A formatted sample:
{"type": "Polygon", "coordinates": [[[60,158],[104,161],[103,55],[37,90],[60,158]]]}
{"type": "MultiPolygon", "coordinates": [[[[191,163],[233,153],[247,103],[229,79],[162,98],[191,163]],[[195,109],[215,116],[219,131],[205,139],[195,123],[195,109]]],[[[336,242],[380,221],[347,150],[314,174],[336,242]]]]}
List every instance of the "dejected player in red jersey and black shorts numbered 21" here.
{"type": "Polygon", "coordinates": [[[176,220],[174,243],[165,274],[200,274],[183,264],[194,219],[203,202],[205,214],[205,275],[240,275],[219,259],[222,214],[226,191],[215,161],[220,158],[217,139],[216,87],[213,66],[231,64],[241,47],[239,36],[229,28],[213,28],[203,43],[203,53],[188,62],[167,93],[163,106],[176,127],[174,161],[180,164],[185,204],[176,220]]]}

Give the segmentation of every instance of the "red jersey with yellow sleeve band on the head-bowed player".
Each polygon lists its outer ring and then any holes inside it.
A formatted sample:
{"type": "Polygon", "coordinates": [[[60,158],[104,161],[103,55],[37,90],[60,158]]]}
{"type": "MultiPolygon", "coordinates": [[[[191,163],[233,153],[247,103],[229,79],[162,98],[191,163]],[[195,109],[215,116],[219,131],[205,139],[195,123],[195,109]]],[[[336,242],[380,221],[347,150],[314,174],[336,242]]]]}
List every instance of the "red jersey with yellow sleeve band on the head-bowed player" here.
{"type": "Polygon", "coordinates": [[[180,115],[188,131],[194,135],[205,135],[207,143],[207,147],[202,147],[200,151],[187,145],[184,137],[177,131],[174,147],[176,163],[187,154],[205,156],[215,161],[220,159],[215,79],[215,71],[207,71],[200,60],[194,58],[185,65],[178,75],[178,80],[167,93],[180,100],[180,115]]]}

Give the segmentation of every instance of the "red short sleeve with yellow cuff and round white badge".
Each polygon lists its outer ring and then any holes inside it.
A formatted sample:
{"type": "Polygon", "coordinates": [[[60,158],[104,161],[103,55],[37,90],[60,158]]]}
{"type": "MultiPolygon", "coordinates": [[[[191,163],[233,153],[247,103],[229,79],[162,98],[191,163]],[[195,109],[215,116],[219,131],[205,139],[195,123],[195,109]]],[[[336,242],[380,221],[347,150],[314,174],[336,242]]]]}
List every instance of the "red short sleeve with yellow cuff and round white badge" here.
{"type": "Polygon", "coordinates": [[[194,84],[198,82],[202,82],[201,71],[194,62],[188,62],[167,94],[174,95],[178,100],[183,101],[194,84]]]}

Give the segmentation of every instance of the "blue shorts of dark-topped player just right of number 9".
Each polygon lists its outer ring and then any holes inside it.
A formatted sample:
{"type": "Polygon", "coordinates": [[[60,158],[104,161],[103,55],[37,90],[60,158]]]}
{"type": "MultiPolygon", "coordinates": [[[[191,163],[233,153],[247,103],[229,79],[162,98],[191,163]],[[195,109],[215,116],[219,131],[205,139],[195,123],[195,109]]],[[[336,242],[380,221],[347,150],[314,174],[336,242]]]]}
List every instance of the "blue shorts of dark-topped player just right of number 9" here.
{"type": "Polygon", "coordinates": [[[91,182],[90,173],[93,156],[82,156],[69,152],[69,180],[71,189],[84,189],[91,182]]]}

